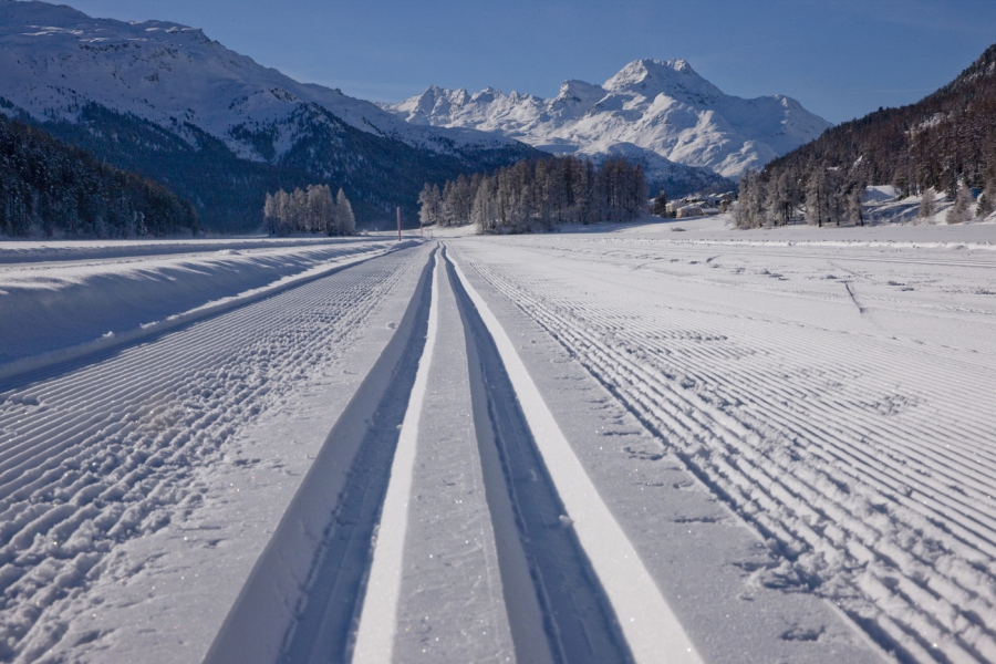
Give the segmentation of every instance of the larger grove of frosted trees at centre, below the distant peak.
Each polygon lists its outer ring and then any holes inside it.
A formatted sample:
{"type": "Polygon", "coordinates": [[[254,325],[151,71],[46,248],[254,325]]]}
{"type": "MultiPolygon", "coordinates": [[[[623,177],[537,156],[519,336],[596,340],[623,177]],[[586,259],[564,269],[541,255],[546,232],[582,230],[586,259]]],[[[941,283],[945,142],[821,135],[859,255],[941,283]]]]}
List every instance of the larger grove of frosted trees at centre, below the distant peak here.
{"type": "Polygon", "coordinates": [[[629,221],[646,208],[643,169],[625,159],[595,168],[589,159],[527,159],[492,175],[425,185],[419,220],[439,226],[474,224],[481,234],[550,230],[559,224],[629,221]]]}

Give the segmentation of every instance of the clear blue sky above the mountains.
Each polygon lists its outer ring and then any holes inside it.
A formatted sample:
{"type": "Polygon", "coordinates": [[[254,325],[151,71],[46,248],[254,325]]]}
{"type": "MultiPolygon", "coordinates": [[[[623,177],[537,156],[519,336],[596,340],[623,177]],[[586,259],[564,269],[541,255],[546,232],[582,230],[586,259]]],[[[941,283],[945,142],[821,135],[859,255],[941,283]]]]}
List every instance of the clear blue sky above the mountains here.
{"type": "Polygon", "coordinates": [[[163,19],[372,101],[427,85],[553,96],[639,58],[684,58],[720,90],[787,94],[830,122],[914,102],[996,42],[996,0],[66,0],[163,19]]]}

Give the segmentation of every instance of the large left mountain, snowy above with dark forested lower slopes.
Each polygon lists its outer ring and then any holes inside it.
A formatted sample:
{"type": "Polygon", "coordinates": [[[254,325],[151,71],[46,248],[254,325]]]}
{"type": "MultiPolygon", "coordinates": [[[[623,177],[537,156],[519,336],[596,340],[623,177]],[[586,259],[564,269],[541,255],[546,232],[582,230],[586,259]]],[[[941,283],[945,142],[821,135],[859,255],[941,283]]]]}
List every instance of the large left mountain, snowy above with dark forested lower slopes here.
{"type": "Polygon", "coordinates": [[[266,187],[278,184],[342,186],[370,218],[395,205],[414,209],[426,180],[535,154],[501,136],[412,126],[197,29],[92,19],[44,2],[0,2],[0,71],[8,114],[185,187],[215,228],[258,225],[266,187]]]}

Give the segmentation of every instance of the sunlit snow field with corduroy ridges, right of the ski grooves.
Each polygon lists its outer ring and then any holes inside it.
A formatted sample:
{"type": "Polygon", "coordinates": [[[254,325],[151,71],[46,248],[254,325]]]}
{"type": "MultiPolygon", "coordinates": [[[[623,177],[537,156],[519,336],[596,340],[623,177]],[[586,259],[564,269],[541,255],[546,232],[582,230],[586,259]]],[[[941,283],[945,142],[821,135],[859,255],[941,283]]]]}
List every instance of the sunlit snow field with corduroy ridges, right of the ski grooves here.
{"type": "Polygon", "coordinates": [[[904,661],[996,656],[988,251],[459,250],[765,537],[754,582],[832,600],[904,661]]]}

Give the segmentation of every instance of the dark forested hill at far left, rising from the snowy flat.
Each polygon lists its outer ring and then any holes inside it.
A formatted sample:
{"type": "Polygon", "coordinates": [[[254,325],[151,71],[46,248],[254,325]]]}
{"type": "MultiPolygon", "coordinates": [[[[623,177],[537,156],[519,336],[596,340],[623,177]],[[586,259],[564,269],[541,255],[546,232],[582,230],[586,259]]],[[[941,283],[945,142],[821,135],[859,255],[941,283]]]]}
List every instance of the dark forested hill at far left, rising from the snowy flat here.
{"type": "Polygon", "coordinates": [[[197,234],[189,201],[0,114],[0,235],[133,238],[197,234]]]}

